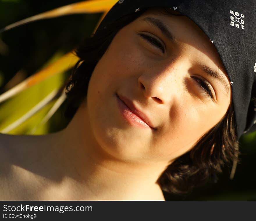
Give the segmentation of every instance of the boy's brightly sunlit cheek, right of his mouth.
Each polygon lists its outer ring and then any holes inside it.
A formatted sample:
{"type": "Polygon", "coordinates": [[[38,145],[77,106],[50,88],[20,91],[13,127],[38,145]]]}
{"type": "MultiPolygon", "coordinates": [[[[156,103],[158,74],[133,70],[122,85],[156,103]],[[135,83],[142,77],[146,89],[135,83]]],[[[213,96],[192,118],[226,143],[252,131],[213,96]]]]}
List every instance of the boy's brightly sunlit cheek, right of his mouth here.
{"type": "MultiPolygon", "coordinates": [[[[215,126],[225,114],[214,113],[214,108],[189,105],[185,102],[182,108],[171,115],[168,124],[160,128],[153,139],[156,155],[166,160],[174,159],[190,151],[200,137],[215,126]]],[[[173,110],[174,111],[174,110],[173,110]]]]}

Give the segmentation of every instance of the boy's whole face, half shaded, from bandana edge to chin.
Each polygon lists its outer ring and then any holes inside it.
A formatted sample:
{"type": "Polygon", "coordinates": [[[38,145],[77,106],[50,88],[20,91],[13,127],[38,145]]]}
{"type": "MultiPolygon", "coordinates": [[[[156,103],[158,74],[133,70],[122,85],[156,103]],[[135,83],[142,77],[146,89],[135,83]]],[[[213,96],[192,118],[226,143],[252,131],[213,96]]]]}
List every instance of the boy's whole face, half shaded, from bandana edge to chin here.
{"type": "Polygon", "coordinates": [[[187,17],[152,9],[114,37],[93,71],[86,108],[107,153],[168,163],[214,127],[230,102],[210,39],[187,17]]]}

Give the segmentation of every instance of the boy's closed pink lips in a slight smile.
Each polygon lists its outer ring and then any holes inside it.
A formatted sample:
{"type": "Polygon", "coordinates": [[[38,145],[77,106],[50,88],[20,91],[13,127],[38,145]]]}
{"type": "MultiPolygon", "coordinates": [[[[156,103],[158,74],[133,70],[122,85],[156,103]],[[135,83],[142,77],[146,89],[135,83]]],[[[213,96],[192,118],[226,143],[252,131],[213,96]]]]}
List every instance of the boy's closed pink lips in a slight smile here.
{"type": "Polygon", "coordinates": [[[116,97],[122,117],[128,123],[140,128],[156,130],[156,128],[152,126],[149,118],[143,112],[139,111],[131,100],[118,94],[116,94],[116,97]]]}

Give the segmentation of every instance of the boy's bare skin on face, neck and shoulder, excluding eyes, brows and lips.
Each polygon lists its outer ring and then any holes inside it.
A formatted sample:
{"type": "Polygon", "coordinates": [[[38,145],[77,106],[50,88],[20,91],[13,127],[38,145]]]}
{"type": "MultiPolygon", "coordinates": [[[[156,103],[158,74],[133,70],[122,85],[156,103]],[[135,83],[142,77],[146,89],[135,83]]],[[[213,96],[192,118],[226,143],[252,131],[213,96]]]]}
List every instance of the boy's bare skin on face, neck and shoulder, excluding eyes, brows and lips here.
{"type": "Polygon", "coordinates": [[[148,10],[114,37],[67,128],[44,136],[1,135],[0,186],[6,191],[0,198],[164,200],[157,184],[161,173],[222,119],[230,102],[230,81],[202,30],[184,16],[148,10]],[[145,17],[160,19],[177,41],[145,17]],[[157,38],[165,52],[138,33],[157,38]],[[199,63],[219,71],[228,93],[199,63]],[[213,99],[195,76],[210,83],[213,99]],[[156,129],[129,124],[116,93],[129,98],[156,129]]]}

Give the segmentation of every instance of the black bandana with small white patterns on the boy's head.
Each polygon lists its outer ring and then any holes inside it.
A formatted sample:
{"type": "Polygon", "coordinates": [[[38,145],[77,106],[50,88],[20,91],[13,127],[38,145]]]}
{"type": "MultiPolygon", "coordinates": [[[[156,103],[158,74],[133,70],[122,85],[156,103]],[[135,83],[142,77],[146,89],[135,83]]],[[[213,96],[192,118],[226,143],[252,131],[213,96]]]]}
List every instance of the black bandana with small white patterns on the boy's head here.
{"type": "Polygon", "coordinates": [[[98,30],[150,7],[171,8],[189,17],[211,39],[230,79],[238,139],[256,131],[256,1],[120,0],[98,30]]]}

